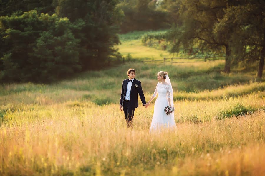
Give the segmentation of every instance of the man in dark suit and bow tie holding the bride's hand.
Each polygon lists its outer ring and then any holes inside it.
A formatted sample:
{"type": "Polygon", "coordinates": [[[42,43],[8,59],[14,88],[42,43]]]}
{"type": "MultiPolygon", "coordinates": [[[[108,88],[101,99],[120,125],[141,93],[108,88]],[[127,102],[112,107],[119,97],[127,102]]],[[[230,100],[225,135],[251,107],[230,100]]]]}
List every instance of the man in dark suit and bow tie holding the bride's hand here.
{"type": "Polygon", "coordinates": [[[125,79],[122,82],[122,91],[120,95],[120,110],[125,115],[125,120],[127,122],[127,127],[132,126],[132,120],[135,108],[138,107],[138,93],[145,106],[145,96],[143,94],[141,82],[134,79],[135,70],[130,68],[127,71],[129,79],[125,79]]]}

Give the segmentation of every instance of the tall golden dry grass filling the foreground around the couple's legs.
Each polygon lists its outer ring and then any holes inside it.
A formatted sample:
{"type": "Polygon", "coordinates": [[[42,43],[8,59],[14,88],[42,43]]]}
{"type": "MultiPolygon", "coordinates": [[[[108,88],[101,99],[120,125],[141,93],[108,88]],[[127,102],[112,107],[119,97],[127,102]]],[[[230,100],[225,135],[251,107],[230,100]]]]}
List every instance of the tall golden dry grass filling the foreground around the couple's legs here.
{"type": "Polygon", "coordinates": [[[21,104],[6,111],[3,117],[0,173],[261,175],[264,99],[249,95],[218,101],[176,101],[175,105],[178,129],[149,134],[153,104],[149,109],[143,106],[136,109],[133,129],[126,128],[117,104],[97,106],[86,101],[21,104]],[[255,111],[203,122],[187,120],[191,117],[182,119],[184,114],[191,113],[202,118],[215,117],[222,108],[229,109],[238,102],[252,105],[255,111]],[[236,155],[239,158],[233,157],[236,155]]]}

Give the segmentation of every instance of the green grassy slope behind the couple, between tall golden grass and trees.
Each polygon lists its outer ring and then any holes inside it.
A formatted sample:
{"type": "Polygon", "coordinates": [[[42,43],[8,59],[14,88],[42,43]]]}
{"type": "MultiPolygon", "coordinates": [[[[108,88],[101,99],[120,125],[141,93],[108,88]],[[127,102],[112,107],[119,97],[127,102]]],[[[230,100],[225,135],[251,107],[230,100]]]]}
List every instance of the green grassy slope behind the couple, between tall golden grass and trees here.
{"type": "Polygon", "coordinates": [[[256,81],[254,72],[223,73],[223,60],[191,62],[185,64],[142,64],[130,62],[101,71],[88,71],[53,84],[5,84],[1,85],[1,101],[29,99],[30,102],[62,102],[82,99],[91,94],[89,101],[97,104],[118,103],[123,79],[128,68],[135,68],[136,79],[142,82],[143,91],[153,94],[157,84],[156,74],[163,70],[169,73],[176,99],[216,99],[264,91],[264,79],[256,81]],[[260,82],[260,83],[259,83],[260,82]],[[248,86],[251,83],[250,86],[248,86]],[[236,84],[236,85],[235,85],[236,84]],[[235,86],[233,86],[235,85],[235,86]],[[246,85],[246,86],[244,86],[246,85]],[[230,87],[229,87],[230,86],[230,87]],[[245,89],[246,88],[246,89],[245,89]],[[104,96],[102,96],[104,94],[104,96]],[[8,95],[17,95],[16,97],[8,95]],[[20,99],[21,97],[21,99],[20,99]],[[102,102],[102,103],[100,103],[102,102]]]}

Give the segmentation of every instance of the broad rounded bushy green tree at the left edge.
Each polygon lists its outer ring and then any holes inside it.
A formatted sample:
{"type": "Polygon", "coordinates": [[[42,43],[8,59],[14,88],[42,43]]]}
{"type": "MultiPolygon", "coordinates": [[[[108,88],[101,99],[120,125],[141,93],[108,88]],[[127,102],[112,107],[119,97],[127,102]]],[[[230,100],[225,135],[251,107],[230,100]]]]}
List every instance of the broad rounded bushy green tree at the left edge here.
{"type": "Polygon", "coordinates": [[[67,18],[37,11],[0,17],[1,77],[6,82],[50,82],[81,69],[80,41],[67,18]],[[56,24],[56,25],[55,25],[56,24]]]}

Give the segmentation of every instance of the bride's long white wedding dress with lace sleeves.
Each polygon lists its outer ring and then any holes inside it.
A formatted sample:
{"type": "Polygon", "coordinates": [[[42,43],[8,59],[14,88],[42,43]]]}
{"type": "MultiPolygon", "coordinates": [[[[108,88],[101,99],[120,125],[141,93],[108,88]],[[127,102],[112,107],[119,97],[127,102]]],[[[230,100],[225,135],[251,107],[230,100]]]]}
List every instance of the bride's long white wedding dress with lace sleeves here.
{"type": "MultiPolygon", "coordinates": [[[[176,123],[174,120],[174,113],[167,115],[164,111],[165,106],[169,106],[168,98],[172,97],[173,91],[171,90],[170,84],[158,83],[153,94],[154,97],[158,94],[155,100],[154,114],[151,122],[150,132],[159,128],[174,128],[176,123]]],[[[171,101],[173,102],[173,100],[171,101]]],[[[171,106],[173,104],[171,103],[171,106]]]]}

